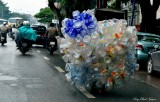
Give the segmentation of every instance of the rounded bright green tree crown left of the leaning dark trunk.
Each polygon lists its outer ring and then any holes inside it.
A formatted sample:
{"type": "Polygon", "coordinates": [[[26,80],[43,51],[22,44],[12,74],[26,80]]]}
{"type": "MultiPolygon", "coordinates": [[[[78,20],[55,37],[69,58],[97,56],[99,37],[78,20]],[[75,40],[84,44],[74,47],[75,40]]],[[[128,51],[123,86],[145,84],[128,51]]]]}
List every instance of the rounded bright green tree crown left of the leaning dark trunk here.
{"type": "Polygon", "coordinates": [[[39,18],[39,22],[47,23],[52,22],[52,19],[54,18],[55,14],[49,7],[42,8],[39,13],[35,15],[36,18],[39,18]]]}

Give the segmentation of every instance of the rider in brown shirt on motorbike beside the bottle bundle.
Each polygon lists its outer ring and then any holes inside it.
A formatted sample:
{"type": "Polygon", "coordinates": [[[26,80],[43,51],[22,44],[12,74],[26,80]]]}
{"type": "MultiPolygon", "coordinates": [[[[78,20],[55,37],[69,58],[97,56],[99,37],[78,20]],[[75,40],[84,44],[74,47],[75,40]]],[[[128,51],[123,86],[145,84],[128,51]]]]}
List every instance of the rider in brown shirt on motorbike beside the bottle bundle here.
{"type": "Polygon", "coordinates": [[[49,46],[50,41],[55,42],[55,50],[57,49],[57,39],[56,36],[58,35],[57,28],[55,27],[54,23],[50,23],[47,31],[46,31],[46,36],[48,37],[46,41],[46,47],[49,46]]]}

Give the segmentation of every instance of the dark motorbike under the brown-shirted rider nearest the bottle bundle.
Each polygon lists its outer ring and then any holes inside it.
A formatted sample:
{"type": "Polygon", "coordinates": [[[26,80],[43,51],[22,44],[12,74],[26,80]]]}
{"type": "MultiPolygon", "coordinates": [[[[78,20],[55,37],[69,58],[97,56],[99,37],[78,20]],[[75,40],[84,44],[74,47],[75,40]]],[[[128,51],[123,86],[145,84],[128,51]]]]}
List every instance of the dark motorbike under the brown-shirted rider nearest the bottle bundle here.
{"type": "Polygon", "coordinates": [[[51,55],[53,55],[53,52],[57,50],[57,39],[56,38],[50,38],[47,42],[47,50],[51,55]]]}

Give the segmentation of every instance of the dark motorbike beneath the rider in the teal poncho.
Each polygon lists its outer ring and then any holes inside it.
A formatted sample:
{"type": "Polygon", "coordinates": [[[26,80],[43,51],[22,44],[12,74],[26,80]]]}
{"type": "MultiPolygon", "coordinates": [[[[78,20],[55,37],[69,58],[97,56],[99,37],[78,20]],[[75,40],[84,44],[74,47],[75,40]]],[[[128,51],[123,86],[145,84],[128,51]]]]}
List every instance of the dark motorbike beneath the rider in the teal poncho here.
{"type": "Polygon", "coordinates": [[[19,43],[19,51],[25,55],[27,51],[29,51],[32,47],[32,43],[27,40],[27,39],[23,39],[22,41],[20,41],[19,43]]]}

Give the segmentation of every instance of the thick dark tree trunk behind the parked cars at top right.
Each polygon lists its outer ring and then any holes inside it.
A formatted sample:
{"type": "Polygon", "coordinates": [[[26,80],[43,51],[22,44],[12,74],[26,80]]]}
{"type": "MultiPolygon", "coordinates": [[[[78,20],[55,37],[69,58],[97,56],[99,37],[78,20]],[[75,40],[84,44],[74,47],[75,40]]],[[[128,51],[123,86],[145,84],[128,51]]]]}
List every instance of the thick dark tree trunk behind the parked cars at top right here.
{"type": "Polygon", "coordinates": [[[150,4],[150,0],[140,0],[142,13],[141,32],[156,33],[156,12],[159,4],[159,0],[153,0],[153,5],[150,4]]]}

